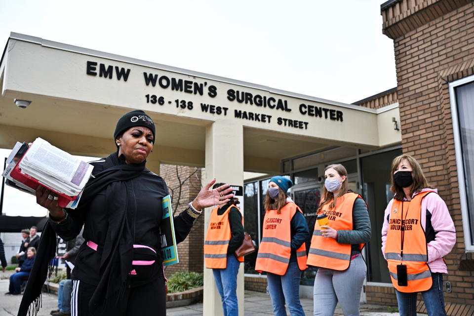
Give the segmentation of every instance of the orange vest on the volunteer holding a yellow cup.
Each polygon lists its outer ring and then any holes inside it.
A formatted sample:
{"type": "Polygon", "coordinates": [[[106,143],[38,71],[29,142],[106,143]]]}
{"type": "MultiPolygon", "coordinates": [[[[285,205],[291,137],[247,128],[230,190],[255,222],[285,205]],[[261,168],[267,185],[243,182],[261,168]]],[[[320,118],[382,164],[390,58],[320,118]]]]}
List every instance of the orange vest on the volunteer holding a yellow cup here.
{"type": "MultiPolygon", "coordinates": [[[[329,225],[335,230],[352,230],[352,210],[357,197],[362,198],[354,192],[348,192],[336,200],[336,207],[329,209],[330,200],[322,206],[322,213],[326,214],[329,225]]],[[[360,244],[362,250],[365,244],[360,244]]],[[[334,238],[321,236],[321,228],[315,223],[315,230],[311,239],[310,251],[308,253],[308,264],[315,267],[344,271],[351,264],[352,245],[339,243],[334,238]]]]}

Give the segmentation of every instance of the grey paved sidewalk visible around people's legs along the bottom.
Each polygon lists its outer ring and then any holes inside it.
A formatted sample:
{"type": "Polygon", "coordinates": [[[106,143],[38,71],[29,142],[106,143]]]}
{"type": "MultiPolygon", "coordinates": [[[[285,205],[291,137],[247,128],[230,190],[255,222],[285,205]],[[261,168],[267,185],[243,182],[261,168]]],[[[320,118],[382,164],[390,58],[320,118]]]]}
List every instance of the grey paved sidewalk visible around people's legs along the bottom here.
{"type": "MultiPolygon", "coordinates": [[[[21,295],[4,295],[8,292],[8,279],[0,280],[0,316],[12,316],[18,312],[21,295]]],[[[304,298],[301,300],[307,316],[313,315],[313,300],[304,298]]],[[[58,307],[58,297],[55,294],[42,294],[42,308],[38,316],[48,316],[49,312],[58,307]]],[[[272,301],[265,293],[245,291],[245,316],[273,315],[272,301]]],[[[202,315],[202,303],[196,303],[184,307],[174,307],[167,309],[167,316],[200,316],[202,315]]],[[[288,315],[290,315],[288,313],[288,315]]],[[[342,316],[342,311],[338,307],[334,315],[342,316]]],[[[379,305],[363,304],[360,306],[361,316],[398,316],[398,313],[388,313],[387,307],[379,305]]],[[[418,314],[423,316],[426,314],[418,314]]]]}

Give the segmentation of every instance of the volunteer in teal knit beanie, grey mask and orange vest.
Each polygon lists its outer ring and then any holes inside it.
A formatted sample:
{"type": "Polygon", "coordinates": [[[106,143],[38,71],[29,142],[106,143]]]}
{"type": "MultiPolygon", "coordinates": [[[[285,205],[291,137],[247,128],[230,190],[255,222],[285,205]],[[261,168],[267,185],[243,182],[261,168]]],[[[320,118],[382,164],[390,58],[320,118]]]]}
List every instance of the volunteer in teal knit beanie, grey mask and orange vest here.
{"type": "Polygon", "coordinates": [[[301,272],[306,270],[306,240],[310,236],[303,211],[287,196],[291,180],[270,179],[265,197],[262,242],[255,270],[267,272],[268,291],[275,316],[304,316],[300,303],[301,272]]]}

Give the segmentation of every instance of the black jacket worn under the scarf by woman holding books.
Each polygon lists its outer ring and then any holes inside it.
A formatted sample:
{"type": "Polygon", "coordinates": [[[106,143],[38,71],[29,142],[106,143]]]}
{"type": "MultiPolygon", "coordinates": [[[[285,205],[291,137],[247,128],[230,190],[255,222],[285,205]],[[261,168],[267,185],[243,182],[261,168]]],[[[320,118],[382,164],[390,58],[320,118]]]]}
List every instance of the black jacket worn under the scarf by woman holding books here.
{"type": "MultiPolygon", "coordinates": [[[[91,162],[94,166],[93,175],[111,167],[109,160],[100,159],[91,162]]],[[[124,163],[120,159],[120,163],[124,163]]],[[[168,189],[164,180],[155,173],[145,169],[137,178],[129,180],[133,188],[133,197],[136,203],[137,213],[134,219],[134,244],[141,244],[157,250],[158,259],[156,264],[161,266],[162,258],[160,248],[159,224],[163,215],[161,199],[168,195],[168,189]]],[[[104,244],[108,231],[107,215],[103,212],[105,208],[105,192],[97,194],[86,208],[79,207],[76,210],[68,210],[68,218],[61,223],[50,222],[54,231],[64,240],[71,240],[79,234],[84,225],[82,236],[85,241],[93,241],[99,245],[97,251],[91,249],[84,242],[79,248],[76,257],[74,278],[85,283],[97,285],[100,280],[97,267],[101,261],[101,245],[104,244]]],[[[174,217],[174,229],[176,242],[183,241],[189,234],[194,218],[186,212],[181,212],[174,217]]],[[[162,273],[161,269],[156,269],[162,273]]],[[[152,279],[150,279],[151,281],[152,279]]]]}

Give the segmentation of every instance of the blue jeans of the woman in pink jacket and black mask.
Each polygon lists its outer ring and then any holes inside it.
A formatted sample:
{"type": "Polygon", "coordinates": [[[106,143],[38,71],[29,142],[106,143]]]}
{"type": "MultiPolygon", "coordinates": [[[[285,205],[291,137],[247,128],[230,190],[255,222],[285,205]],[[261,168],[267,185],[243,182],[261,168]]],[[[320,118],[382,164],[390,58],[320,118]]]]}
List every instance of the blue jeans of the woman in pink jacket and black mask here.
{"type": "MultiPolygon", "coordinates": [[[[443,275],[432,273],[433,285],[428,291],[420,292],[429,316],[446,316],[443,296],[443,275]]],[[[418,293],[403,293],[395,290],[400,316],[416,316],[416,296],[418,293]]]]}

